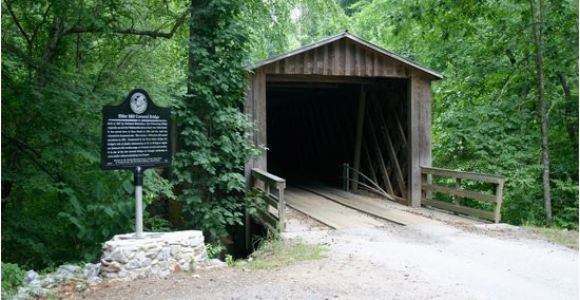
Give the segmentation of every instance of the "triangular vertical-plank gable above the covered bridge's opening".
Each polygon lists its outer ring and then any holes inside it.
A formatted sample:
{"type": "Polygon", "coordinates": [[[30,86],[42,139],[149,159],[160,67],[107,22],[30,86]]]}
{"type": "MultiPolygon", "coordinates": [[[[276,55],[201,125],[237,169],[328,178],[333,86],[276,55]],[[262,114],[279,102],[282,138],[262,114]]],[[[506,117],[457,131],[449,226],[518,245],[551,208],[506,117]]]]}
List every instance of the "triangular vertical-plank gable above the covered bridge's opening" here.
{"type": "Polygon", "coordinates": [[[412,69],[366,46],[340,39],[265,65],[266,74],[359,77],[411,76],[412,69]]]}

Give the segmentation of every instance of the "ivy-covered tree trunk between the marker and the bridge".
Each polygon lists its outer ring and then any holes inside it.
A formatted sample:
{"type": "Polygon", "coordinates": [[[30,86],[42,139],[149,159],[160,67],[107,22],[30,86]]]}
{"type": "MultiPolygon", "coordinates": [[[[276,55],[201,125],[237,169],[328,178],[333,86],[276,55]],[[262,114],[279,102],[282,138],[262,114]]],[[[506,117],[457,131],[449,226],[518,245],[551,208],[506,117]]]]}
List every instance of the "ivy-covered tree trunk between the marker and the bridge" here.
{"type": "Polygon", "coordinates": [[[175,182],[186,220],[215,240],[241,224],[244,165],[258,154],[252,124],[240,111],[246,86],[247,35],[239,1],[203,1],[190,25],[188,92],[175,105],[179,148],[175,182]]]}

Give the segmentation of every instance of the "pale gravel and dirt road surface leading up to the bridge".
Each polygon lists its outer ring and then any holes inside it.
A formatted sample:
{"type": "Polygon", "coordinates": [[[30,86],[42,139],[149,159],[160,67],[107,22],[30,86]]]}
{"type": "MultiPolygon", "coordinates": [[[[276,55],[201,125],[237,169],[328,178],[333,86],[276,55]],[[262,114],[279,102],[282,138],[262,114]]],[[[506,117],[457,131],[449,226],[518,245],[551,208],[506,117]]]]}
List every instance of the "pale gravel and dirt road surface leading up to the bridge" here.
{"type": "MultiPolygon", "coordinates": [[[[578,299],[578,252],[518,227],[470,222],[328,230],[291,212],[286,238],[328,257],[104,283],[77,299],[578,299]]],[[[445,219],[445,218],[444,218],[445,219]]]]}

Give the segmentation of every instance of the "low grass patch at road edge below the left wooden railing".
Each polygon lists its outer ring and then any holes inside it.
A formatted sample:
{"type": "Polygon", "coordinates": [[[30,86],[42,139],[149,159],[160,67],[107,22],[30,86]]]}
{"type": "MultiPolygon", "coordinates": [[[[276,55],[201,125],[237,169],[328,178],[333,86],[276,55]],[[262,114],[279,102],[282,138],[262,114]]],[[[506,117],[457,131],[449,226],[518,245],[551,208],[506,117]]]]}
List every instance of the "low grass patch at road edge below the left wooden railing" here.
{"type": "Polygon", "coordinates": [[[235,266],[244,269],[273,269],[305,260],[326,258],[328,248],[321,244],[311,245],[303,241],[267,241],[248,260],[236,261],[235,266]]]}

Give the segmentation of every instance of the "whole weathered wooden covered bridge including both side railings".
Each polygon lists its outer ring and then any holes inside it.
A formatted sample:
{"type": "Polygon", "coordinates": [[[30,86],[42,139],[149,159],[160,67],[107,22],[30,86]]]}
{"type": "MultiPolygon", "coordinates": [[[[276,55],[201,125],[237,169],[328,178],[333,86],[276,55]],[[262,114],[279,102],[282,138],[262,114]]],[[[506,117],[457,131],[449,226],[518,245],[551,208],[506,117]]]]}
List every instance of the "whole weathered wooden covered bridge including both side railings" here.
{"type": "Polygon", "coordinates": [[[245,112],[257,128],[255,145],[268,150],[247,164],[246,175],[272,206],[266,223],[283,227],[286,185],[319,194],[366,190],[412,207],[427,204],[499,221],[503,178],[431,168],[431,83],[441,74],[348,32],[250,71],[245,112]],[[434,185],[433,175],[455,178],[455,185],[434,185]],[[498,189],[468,191],[462,179],[498,189]],[[433,200],[435,192],[452,195],[454,203],[433,200]],[[495,207],[466,207],[464,197],[495,207]]]}

